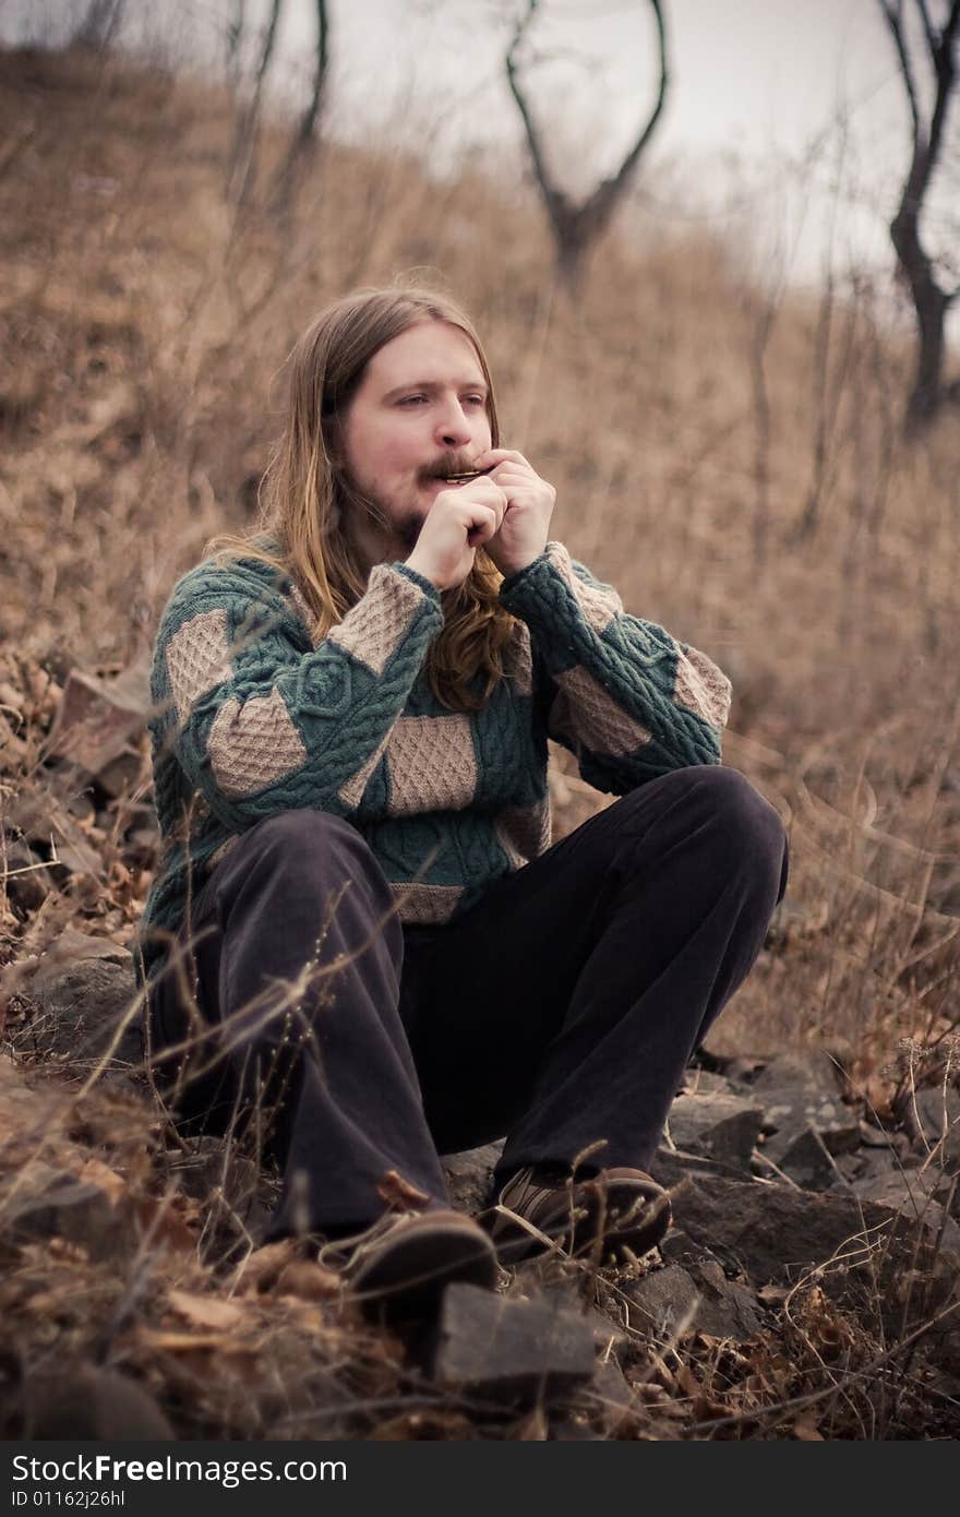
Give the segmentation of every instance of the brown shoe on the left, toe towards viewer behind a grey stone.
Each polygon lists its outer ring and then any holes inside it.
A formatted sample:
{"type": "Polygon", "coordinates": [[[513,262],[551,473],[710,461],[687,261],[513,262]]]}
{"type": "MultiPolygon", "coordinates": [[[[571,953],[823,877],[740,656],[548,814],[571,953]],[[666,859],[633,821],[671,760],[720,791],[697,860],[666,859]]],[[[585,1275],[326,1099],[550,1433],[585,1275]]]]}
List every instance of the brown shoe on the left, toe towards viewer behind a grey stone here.
{"type": "Polygon", "coordinates": [[[494,1289],[496,1250],[460,1212],[385,1217],[356,1241],[344,1276],[365,1315],[426,1318],[453,1280],[494,1289]]]}

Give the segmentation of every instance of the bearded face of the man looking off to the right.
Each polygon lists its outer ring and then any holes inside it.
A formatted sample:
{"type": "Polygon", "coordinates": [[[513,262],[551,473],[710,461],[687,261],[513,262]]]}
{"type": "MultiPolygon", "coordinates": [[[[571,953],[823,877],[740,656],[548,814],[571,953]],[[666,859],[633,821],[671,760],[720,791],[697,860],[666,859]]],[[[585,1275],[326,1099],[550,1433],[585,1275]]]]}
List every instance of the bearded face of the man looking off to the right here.
{"type": "Polygon", "coordinates": [[[390,522],[390,537],[352,523],[365,558],[406,558],[446,475],[491,444],[487,384],[470,340],[422,322],[367,364],[344,425],[352,482],[390,522]]]}

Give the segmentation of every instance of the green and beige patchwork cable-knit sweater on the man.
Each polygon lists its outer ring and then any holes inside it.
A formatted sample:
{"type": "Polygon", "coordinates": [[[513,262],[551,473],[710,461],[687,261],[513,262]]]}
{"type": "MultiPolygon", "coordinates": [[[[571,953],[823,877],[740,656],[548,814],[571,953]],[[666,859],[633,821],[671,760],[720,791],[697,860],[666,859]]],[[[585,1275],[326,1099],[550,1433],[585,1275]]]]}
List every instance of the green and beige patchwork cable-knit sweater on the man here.
{"type": "Polygon", "coordinates": [[[444,922],[549,846],[547,737],[623,795],[720,762],[729,681],[623,613],[561,543],[500,587],[507,674],[479,711],[440,705],[426,654],[434,586],[379,564],[317,645],[291,581],[256,560],[202,563],[156,639],[150,724],[162,854],[141,924],[149,974],[191,894],[249,827],[312,807],[373,850],[403,922],[444,922]]]}

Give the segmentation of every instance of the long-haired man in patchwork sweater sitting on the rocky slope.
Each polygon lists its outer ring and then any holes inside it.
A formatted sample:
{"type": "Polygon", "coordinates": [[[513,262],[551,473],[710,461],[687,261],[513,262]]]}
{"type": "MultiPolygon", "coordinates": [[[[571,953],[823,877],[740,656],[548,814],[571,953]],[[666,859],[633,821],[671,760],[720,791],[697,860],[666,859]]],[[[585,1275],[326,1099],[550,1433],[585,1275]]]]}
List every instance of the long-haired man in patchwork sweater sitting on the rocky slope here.
{"type": "Polygon", "coordinates": [[[493,1283],[438,1153],[504,1135],[502,1262],[642,1253],[684,1065],[786,886],[776,813],[719,766],[728,681],[547,542],[555,490],[499,446],[450,300],[337,302],[290,375],[262,532],[185,575],[156,643],[174,1106],[268,1109],[275,1233],[397,1311],[493,1283]],[[552,848],[547,737],[622,796],[552,848]]]}

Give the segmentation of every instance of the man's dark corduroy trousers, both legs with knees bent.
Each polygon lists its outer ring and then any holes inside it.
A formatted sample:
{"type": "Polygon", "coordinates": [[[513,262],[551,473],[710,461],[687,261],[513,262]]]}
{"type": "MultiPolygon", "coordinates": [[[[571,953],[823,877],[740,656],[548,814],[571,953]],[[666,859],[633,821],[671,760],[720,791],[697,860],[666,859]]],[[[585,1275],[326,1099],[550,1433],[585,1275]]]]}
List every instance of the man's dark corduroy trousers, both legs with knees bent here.
{"type": "Polygon", "coordinates": [[[591,1145],[585,1168],[645,1168],[786,883],[776,812],[719,766],[649,781],[435,928],[400,927],[353,827],[287,812],[194,901],[153,1054],[170,1086],[164,1051],[206,1030],[184,1121],[267,1113],[276,1235],[372,1223],[390,1171],[444,1204],[438,1153],[502,1136],[497,1182],[591,1145]]]}

